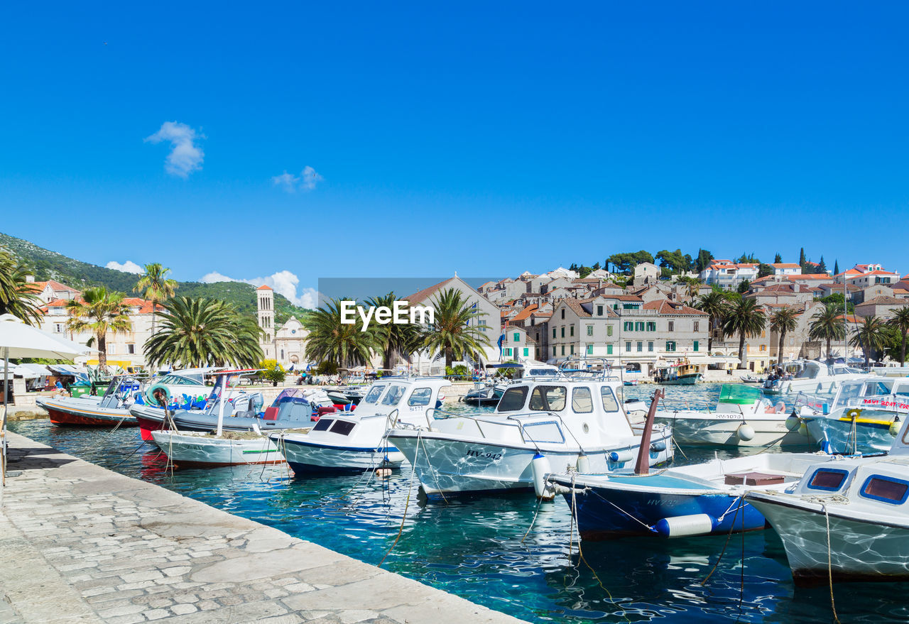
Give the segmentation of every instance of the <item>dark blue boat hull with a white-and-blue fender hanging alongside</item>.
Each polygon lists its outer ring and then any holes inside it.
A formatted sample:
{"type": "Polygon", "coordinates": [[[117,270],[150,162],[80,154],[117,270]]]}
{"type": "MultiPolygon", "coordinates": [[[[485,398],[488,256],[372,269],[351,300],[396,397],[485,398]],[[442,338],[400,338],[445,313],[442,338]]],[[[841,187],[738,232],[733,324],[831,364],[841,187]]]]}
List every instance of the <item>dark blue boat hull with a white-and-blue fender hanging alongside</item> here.
{"type": "MultiPolygon", "coordinates": [[[[658,481],[661,475],[644,477],[658,481]]],[[[619,477],[621,479],[621,477],[619,477]]],[[[570,480],[556,482],[571,486],[570,480]]],[[[761,530],[766,522],[761,512],[738,496],[724,492],[639,491],[592,487],[564,493],[569,508],[575,507],[578,530],[584,540],[609,540],[632,535],[653,535],[660,520],[706,514],[715,519],[703,535],[726,535],[730,531],[761,530]],[[621,511],[619,511],[621,510],[621,511]],[[644,526],[646,525],[646,526],[644,526]]]]}

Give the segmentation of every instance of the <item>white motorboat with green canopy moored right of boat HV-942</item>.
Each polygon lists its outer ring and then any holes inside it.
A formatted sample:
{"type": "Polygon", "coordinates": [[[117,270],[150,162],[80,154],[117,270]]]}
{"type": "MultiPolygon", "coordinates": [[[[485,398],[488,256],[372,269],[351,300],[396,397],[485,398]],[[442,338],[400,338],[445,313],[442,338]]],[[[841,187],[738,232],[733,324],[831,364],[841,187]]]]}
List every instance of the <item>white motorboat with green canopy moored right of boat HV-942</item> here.
{"type": "Polygon", "coordinates": [[[671,409],[656,412],[656,421],[671,425],[679,444],[728,447],[806,447],[808,436],[788,421],[783,401],[766,399],[760,389],[724,383],[710,411],[671,409]],[[792,430],[790,430],[792,427],[792,430]]]}

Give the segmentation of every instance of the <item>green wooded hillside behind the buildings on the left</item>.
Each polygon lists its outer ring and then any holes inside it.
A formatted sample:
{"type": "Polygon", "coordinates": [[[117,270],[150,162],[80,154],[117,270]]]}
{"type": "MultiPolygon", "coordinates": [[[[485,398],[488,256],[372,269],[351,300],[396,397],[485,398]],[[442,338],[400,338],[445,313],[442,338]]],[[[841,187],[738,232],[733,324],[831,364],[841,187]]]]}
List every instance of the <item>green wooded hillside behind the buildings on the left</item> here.
{"type": "MultiPolygon", "coordinates": [[[[88,262],[80,262],[62,253],[38,247],[15,236],[0,233],[0,247],[5,247],[22,258],[35,273],[35,280],[56,280],[80,290],[88,286],[106,286],[108,289],[133,295],[138,276],[134,273],[115,271],[88,262]]],[[[178,282],[178,294],[188,297],[214,297],[232,303],[244,314],[255,317],[255,286],[244,282],[178,282]]],[[[306,322],[309,311],[295,306],[284,295],[275,292],[275,322],[285,322],[292,315],[306,322]]]]}

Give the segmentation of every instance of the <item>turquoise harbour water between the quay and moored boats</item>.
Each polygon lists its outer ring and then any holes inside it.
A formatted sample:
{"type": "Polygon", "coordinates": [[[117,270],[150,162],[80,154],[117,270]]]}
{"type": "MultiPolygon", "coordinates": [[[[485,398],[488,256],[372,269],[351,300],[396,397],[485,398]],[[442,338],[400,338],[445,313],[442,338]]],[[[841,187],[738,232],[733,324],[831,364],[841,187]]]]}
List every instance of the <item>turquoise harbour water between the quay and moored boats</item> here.
{"type": "MultiPolygon", "coordinates": [[[[625,391],[629,398],[645,397],[653,388],[625,391]]],[[[718,395],[718,384],[666,389],[667,403],[715,401],[718,395]]],[[[582,557],[576,543],[569,546],[571,517],[561,499],[541,506],[531,527],[537,510],[532,494],[427,504],[409,469],[387,480],[368,475],[297,479],[283,467],[172,472],[156,450],[140,447],[135,429],[65,428],[48,421],[14,422],[10,428],[372,564],[392,549],[404,519],[385,569],[521,619],[833,621],[829,589],[794,589],[773,530],[734,535],[722,558],[725,537],[590,542],[581,544],[582,557]]],[[[714,453],[685,451],[689,461],[714,453]]],[[[909,620],[903,585],[840,584],[834,595],[843,622],[909,620]]]]}

